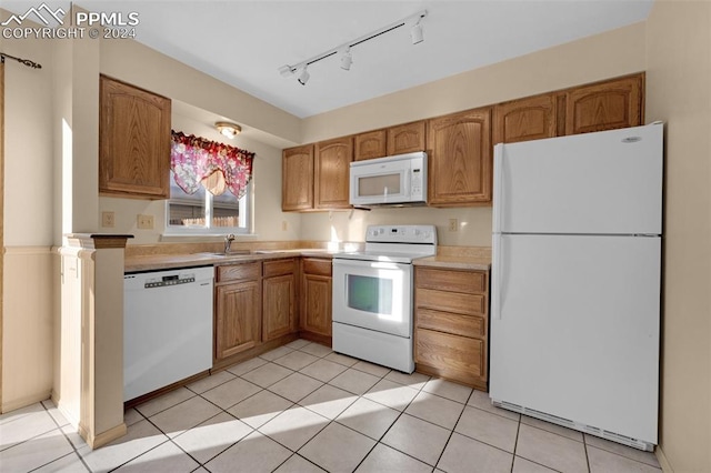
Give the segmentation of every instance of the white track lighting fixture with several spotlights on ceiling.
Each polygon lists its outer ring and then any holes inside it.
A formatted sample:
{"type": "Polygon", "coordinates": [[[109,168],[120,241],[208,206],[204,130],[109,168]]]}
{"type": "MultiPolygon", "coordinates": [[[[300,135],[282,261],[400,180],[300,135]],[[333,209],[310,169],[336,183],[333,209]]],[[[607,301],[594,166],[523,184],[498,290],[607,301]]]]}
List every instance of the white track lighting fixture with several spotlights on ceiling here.
{"type": "Polygon", "coordinates": [[[306,61],[301,61],[294,66],[284,64],[279,68],[279,73],[282,77],[290,77],[297,73],[297,71],[301,70],[301,74],[299,74],[299,83],[301,85],[306,85],[309,81],[309,72],[307,68],[314,62],[319,62],[322,59],[330,58],[334,54],[341,54],[341,69],[350,71],[351,64],[353,63],[353,57],[351,54],[351,48],[363,43],[365,41],[370,41],[371,39],[375,39],[381,34],[388,33],[390,31],[397,30],[400,27],[404,27],[408,24],[412,24],[410,29],[410,39],[412,40],[412,44],[418,44],[424,41],[424,36],[422,33],[422,26],[420,24],[421,20],[427,17],[427,10],[422,10],[418,13],[411,14],[407,18],[403,18],[400,21],[395,21],[394,23],[390,23],[385,27],[380,28],[379,30],[372,31],[368,34],[363,34],[360,38],[356,38],[344,44],[340,44],[333,49],[330,49],[326,52],[314,56],[313,58],[307,59],[306,61]]]}

